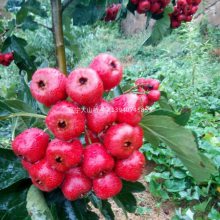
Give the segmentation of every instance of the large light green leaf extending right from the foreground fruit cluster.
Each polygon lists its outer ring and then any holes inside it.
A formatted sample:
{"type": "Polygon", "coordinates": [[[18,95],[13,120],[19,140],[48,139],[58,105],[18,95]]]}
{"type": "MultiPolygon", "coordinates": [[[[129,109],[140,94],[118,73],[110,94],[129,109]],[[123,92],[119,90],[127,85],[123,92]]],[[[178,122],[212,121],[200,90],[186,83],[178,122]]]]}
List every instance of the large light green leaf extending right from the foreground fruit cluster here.
{"type": "MultiPolygon", "coordinates": [[[[169,146],[183,162],[195,180],[208,181],[217,174],[213,163],[198,151],[192,131],[179,126],[173,118],[163,115],[145,115],[141,122],[145,133],[169,146]]],[[[148,136],[145,136],[147,139],[148,136]]]]}

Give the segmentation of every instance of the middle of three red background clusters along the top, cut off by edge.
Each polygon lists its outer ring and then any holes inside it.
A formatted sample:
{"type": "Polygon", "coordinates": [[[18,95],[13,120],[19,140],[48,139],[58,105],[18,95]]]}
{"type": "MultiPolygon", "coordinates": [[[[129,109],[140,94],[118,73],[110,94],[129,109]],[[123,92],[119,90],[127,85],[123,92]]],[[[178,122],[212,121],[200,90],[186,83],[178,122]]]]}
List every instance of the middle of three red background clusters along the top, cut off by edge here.
{"type": "Polygon", "coordinates": [[[170,0],[130,0],[133,5],[137,6],[137,13],[161,14],[164,8],[170,3],[170,0]]]}

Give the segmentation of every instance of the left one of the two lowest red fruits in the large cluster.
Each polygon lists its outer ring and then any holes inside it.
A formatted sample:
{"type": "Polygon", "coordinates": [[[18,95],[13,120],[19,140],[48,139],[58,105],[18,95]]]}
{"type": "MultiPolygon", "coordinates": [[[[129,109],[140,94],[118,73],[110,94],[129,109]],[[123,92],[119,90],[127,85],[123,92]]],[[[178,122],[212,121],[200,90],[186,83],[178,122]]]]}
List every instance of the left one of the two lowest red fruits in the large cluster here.
{"type": "Polygon", "coordinates": [[[68,200],[76,200],[92,189],[91,180],[85,176],[81,167],[70,169],[64,178],[61,190],[68,200]]]}

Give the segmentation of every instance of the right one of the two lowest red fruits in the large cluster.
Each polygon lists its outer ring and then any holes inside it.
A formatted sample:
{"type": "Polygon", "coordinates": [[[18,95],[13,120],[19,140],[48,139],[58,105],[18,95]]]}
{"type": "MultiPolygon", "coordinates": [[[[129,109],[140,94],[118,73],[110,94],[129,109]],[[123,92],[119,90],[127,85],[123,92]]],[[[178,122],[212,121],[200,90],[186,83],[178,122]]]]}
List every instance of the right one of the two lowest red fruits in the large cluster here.
{"type": "Polygon", "coordinates": [[[122,182],[114,172],[93,180],[93,190],[100,199],[116,196],[121,189],[122,182]]]}

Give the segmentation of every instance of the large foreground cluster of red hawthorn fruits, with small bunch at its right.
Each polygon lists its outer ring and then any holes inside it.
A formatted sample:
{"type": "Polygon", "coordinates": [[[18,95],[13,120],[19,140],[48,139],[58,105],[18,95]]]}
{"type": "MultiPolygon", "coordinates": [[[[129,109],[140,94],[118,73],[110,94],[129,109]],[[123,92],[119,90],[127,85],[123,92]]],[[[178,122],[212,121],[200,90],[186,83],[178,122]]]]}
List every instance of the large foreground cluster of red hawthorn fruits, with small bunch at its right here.
{"type": "Polygon", "coordinates": [[[30,90],[38,102],[51,107],[45,123],[54,138],[29,128],[13,140],[12,149],[40,190],[60,187],[68,200],[93,190],[98,198],[108,199],[121,191],[121,179],[140,178],[145,157],[139,151],[143,130],[138,124],[141,109],[159,99],[159,82],[139,79],[134,86],[138,94],[105,100],[104,92],[120,83],[122,73],[115,57],[100,54],[68,77],[53,68],[33,74],[30,90]]]}

